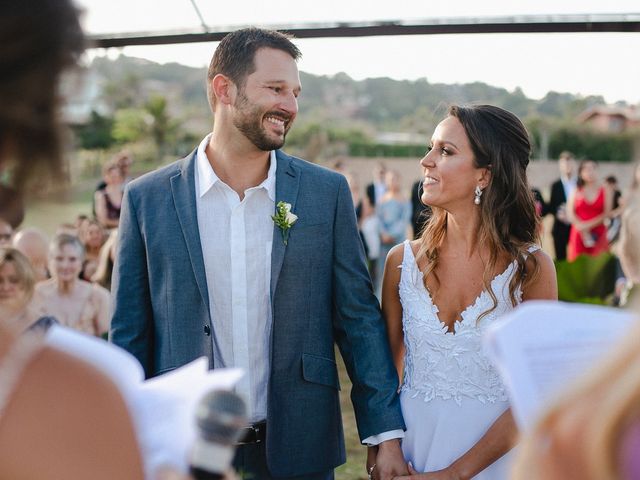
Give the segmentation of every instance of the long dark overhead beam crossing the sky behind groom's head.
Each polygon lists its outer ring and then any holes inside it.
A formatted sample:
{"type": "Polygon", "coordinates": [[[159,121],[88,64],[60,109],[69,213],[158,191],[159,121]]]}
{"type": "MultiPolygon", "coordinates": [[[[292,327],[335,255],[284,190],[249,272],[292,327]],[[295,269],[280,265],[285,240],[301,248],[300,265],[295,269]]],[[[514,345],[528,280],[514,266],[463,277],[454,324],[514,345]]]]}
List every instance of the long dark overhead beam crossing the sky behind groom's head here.
{"type": "MultiPolygon", "coordinates": [[[[640,13],[602,15],[520,15],[509,17],[435,18],[412,21],[336,22],[260,25],[291,33],[296,38],[371,37],[387,35],[443,35],[478,33],[593,33],[640,32],[640,13]]],[[[242,28],[218,27],[210,31],[171,31],[90,35],[94,48],[171,43],[217,42],[242,28]]]]}

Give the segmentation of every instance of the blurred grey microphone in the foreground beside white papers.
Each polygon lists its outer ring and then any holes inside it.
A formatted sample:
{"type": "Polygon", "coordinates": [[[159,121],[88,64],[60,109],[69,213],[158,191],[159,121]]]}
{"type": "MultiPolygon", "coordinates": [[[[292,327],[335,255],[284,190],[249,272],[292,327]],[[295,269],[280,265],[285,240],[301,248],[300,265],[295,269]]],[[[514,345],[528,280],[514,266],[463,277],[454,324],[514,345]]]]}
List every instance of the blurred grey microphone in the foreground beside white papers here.
{"type": "Polygon", "coordinates": [[[247,424],[247,407],[237,393],[213,390],[196,407],[198,438],[191,452],[195,480],[222,480],[247,424]]]}

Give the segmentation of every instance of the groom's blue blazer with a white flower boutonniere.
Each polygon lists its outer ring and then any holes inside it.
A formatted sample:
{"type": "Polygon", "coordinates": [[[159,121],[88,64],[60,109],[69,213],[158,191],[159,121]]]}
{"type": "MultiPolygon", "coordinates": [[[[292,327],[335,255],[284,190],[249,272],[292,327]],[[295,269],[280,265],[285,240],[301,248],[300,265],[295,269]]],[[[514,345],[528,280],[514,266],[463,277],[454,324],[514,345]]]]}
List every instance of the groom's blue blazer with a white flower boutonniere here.
{"type": "MultiPolygon", "coordinates": [[[[294,476],[345,462],[334,344],[353,382],[360,438],[404,423],[347,182],[276,155],[276,204],[290,203],[298,221],[286,246],[279,228],[273,231],[266,452],[272,475],[294,476]]],[[[111,339],[148,377],[203,355],[215,368],[195,159],[194,151],[130,182],[124,195],[111,339]]]]}

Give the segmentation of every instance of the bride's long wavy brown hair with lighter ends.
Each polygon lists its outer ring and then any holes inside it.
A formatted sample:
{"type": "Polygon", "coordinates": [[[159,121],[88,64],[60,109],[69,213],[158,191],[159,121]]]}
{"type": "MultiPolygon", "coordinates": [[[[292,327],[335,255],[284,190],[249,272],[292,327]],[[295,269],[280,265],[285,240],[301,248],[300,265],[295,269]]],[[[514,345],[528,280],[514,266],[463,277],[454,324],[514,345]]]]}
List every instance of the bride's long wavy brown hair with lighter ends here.
{"type": "MultiPolygon", "coordinates": [[[[489,247],[482,283],[493,306],[480,315],[480,320],[498,306],[491,281],[499,258],[506,256],[516,262],[516,272],[509,283],[509,295],[514,306],[518,303],[518,286],[526,290],[539,271],[535,256],[527,256],[529,247],[538,242],[539,221],[527,181],[531,143],[520,119],[502,108],[492,105],[454,105],[449,108],[448,115],[462,124],[473,150],[475,167],[486,168],[491,173],[480,205],[473,203],[474,193],[469,192],[469,208],[480,210],[478,244],[489,247]],[[532,262],[528,275],[525,269],[527,258],[532,262]]],[[[449,213],[438,207],[432,207],[432,210],[420,236],[416,259],[419,264],[426,263],[425,287],[427,278],[433,275],[439,289],[440,280],[435,269],[440,247],[447,235],[449,213]]]]}

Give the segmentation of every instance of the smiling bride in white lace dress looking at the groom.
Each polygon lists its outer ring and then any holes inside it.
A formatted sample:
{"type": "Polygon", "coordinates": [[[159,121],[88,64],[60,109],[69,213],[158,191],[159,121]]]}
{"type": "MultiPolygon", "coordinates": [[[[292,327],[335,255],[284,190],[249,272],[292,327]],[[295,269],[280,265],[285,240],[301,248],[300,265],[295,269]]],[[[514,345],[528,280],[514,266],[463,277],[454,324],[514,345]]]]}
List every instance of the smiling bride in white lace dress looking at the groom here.
{"type": "Polygon", "coordinates": [[[518,303],[557,298],[553,262],[535,244],[530,152],[515,115],[454,106],[420,162],[433,215],[391,250],[382,291],[413,479],[508,477],[517,432],[481,336],[518,303]]]}

